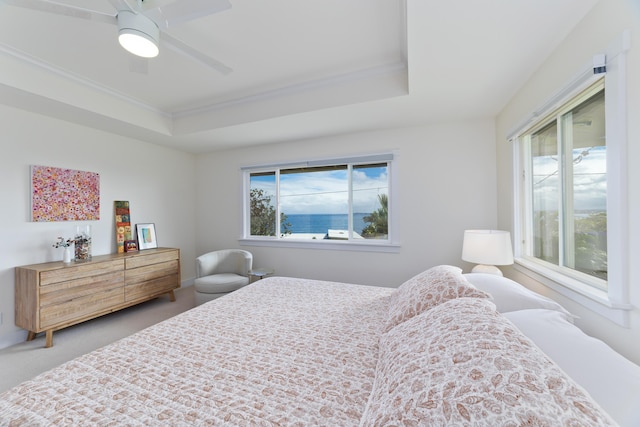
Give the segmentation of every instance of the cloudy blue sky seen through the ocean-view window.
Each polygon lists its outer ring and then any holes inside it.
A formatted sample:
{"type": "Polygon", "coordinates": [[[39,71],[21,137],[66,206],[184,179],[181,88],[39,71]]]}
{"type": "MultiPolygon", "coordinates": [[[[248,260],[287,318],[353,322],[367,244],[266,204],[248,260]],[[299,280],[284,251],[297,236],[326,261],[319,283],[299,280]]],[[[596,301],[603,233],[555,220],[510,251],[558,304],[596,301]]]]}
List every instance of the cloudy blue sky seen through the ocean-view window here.
{"type": "MultiPolygon", "coordinates": [[[[275,194],[272,177],[253,177],[252,185],[275,194]]],[[[378,194],[388,193],[386,168],[354,169],[353,212],[370,213],[380,207],[378,194]]],[[[295,214],[346,214],[348,212],[347,170],[282,174],[281,212],[295,214]]]]}

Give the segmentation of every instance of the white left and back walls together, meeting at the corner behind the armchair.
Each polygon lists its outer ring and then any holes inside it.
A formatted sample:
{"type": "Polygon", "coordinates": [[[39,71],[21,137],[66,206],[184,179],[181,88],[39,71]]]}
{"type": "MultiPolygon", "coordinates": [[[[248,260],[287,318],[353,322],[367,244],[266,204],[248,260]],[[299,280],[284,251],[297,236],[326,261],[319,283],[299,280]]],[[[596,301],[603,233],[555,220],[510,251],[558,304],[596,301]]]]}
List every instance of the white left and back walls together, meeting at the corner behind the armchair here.
{"type": "MultiPolygon", "coordinates": [[[[465,228],[495,227],[495,131],[491,120],[336,136],[196,156],[0,106],[0,348],[26,332],[14,325],[14,267],[59,260],[51,245],[75,222],[30,222],[29,165],[100,174],[101,219],[93,254],[115,251],[113,201],[132,222],[154,222],[162,246],[178,247],[182,280],[195,256],[239,247],[243,165],[396,150],[399,253],[247,247],[280,275],[398,286],[436,264],[457,264],[465,228]],[[194,167],[195,166],[195,167],[194,167]],[[195,207],[195,208],[194,208],[195,207]],[[195,226],[194,226],[195,224],[195,226]]],[[[469,266],[466,266],[467,268],[469,266]]]]}

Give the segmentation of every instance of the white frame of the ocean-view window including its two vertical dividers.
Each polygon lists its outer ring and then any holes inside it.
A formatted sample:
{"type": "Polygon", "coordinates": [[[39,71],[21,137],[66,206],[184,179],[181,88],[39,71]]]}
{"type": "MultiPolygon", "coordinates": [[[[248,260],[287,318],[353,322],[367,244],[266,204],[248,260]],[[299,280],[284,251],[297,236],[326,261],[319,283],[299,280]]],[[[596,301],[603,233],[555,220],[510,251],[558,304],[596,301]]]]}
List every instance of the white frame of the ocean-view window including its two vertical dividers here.
{"type": "MultiPolygon", "coordinates": [[[[238,239],[241,245],[250,246],[272,246],[272,247],[288,247],[288,248],[313,248],[328,250],[345,250],[345,251],[365,251],[365,252],[399,252],[400,244],[398,239],[397,225],[397,152],[387,152],[381,154],[367,154],[353,157],[325,158],[300,162],[276,163],[265,165],[245,166],[241,168],[242,172],[242,230],[241,237],[238,239]],[[349,236],[347,240],[330,240],[330,239],[295,239],[292,237],[283,238],[276,232],[275,236],[254,236],[251,235],[250,224],[250,177],[252,173],[265,173],[275,171],[276,176],[276,218],[280,218],[279,204],[279,180],[280,170],[296,169],[304,167],[322,167],[347,165],[349,174],[354,166],[387,163],[388,168],[388,238],[387,239],[352,239],[349,236]]],[[[349,193],[352,191],[351,178],[348,178],[349,193]]],[[[349,205],[352,203],[352,195],[349,194],[349,205]]],[[[349,225],[353,228],[352,219],[349,219],[349,225]]],[[[278,228],[277,228],[278,229],[278,228]]],[[[352,230],[350,230],[351,232],[352,230]]]]}

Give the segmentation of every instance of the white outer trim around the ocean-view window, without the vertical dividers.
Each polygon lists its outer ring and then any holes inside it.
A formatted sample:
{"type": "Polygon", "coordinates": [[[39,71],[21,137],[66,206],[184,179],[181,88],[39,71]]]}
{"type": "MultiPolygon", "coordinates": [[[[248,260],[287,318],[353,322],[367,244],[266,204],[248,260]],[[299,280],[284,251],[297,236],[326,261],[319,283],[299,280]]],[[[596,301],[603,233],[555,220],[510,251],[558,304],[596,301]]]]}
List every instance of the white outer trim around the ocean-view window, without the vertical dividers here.
{"type": "MultiPolygon", "coordinates": [[[[268,165],[244,166],[241,168],[243,172],[257,172],[269,170],[273,168],[287,168],[300,166],[322,166],[328,164],[339,163],[374,163],[380,161],[381,158],[387,158],[389,162],[389,239],[385,241],[372,240],[307,240],[295,239],[287,237],[281,239],[271,236],[250,236],[247,233],[249,219],[247,217],[247,203],[249,188],[246,174],[242,174],[242,230],[241,237],[238,242],[241,246],[270,246],[279,248],[297,248],[297,249],[323,249],[323,250],[340,250],[340,251],[359,251],[359,252],[400,252],[399,226],[398,226],[398,151],[386,152],[381,154],[366,154],[361,156],[326,158],[316,160],[304,160],[299,162],[274,163],[268,165]]],[[[280,213],[278,211],[277,215],[280,213]]]]}

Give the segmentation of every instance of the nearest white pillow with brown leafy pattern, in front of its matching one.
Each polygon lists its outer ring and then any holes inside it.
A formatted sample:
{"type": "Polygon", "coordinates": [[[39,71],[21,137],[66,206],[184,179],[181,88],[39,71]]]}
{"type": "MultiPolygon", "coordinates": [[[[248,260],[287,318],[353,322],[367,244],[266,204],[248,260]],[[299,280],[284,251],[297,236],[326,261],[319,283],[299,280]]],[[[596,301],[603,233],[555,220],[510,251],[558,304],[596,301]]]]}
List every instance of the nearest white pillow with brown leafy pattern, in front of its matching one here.
{"type": "Polygon", "coordinates": [[[490,300],[458,298],[381,336],[360,425],[615,422],[490,300]]]}

